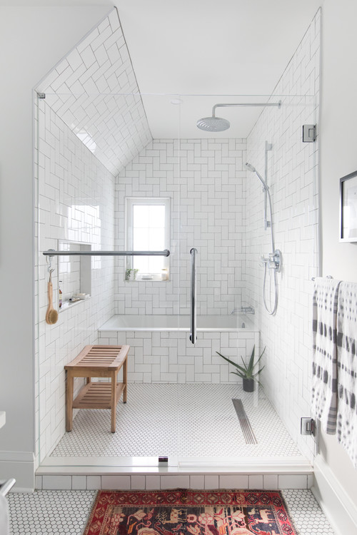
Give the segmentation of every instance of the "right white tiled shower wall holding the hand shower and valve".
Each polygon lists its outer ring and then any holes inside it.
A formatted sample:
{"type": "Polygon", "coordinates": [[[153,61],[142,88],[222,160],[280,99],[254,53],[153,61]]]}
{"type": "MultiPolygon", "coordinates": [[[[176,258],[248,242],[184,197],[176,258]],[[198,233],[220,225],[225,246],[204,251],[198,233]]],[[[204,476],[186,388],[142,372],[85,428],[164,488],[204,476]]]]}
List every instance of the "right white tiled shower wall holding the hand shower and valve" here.
{"type": "Polygon", "coordinates": [[[318,11],[271,97],[278,100],[284,95],[281,109],[266,108],[247,139],[248,162],[261,175],[265,142],[272,143],[268,186],[276,248],[283,254],[278,311],[271,316],[263,306],[260,263],[261,255],[271,250],[270,231],[263,230],[261,184],[248,173],[246,278],[261,347],[266,346],[262,382],[291,436],[310,458],[313,438],[301,437],[299,424],[300,417],[310,415],[311,277],[318,272],[318,143],[302,143],[302,126],[318,118],[320,17],[318,11]]]}

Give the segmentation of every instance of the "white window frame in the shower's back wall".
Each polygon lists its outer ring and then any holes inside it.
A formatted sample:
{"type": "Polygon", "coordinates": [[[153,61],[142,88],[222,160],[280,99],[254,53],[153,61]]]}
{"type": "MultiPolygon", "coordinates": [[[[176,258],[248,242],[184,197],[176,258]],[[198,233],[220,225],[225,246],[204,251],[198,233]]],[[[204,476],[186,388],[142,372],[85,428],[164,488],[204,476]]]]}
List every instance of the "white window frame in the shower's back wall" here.
{"type": "MultiPolygon", "coordinates": [[[[134,205],[152,206],[152,205],[164,205],[165,206],[165,228],[164,228],[164,248],[170,250],[170,220],[171,220],[171,197],[126,197],[125,198],[125,240],[126,250],[134,250],[134,205]]],[[[134,257],[126,257],[126,270],[133,269],[134,257]]],[[[161,277],[161,273],[139,273],[136,280],[144,280],[153,282],[155,280],[169,280],[169,257],[163,257],[163,269],[166,269],[166,279],[161,277]],[[142,278],[142,276],[151,278],[142,278]]],[[[125,277],[125,275],[124,275],[125,277]]]]}

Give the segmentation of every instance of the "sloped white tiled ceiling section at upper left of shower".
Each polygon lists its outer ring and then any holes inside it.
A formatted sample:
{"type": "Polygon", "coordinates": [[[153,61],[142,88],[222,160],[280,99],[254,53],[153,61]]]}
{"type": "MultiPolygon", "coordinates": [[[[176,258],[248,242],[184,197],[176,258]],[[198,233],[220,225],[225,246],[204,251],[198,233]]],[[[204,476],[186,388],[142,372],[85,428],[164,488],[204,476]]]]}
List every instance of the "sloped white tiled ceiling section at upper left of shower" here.
{"type": "Polygon", "coordinates": [[[116,9],[36,91],[114,175],[152,139],[116,9]]]}

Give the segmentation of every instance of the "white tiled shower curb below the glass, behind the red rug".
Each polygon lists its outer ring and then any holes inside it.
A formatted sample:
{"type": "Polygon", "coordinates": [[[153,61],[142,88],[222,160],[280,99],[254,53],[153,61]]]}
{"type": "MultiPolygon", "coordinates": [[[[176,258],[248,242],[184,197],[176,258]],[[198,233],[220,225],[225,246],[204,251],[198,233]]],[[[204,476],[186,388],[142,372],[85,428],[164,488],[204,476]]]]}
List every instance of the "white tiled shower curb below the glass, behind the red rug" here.
{"type": "MultiPolygon", "coordinates": [[[[98,460],[98,459],[97,459],[98,460]]],[[[58,461],[57,461],[58,462],[58,461]]],[[[96,489],[310,489],[313,484],[311,464],[271,462],[237,464],[226,467],[128,467],[59,466],[43,464],[36,471],[38,490],[96,489]]]]}

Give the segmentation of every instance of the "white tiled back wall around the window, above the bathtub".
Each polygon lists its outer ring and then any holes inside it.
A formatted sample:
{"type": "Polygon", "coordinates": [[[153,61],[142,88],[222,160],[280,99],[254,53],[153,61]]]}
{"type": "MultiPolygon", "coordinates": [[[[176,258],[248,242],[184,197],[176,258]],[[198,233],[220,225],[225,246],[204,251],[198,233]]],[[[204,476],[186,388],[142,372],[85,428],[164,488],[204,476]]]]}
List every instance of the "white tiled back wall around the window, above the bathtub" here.
{"type": "Polygon", "coordinates": [[[241,139],[154,140],[116,179],[116,248],[125,248],[125,198],[171,198],[169,280],[124,282],[116,268],[117,314],[189,314],[189,251],[198,249],[197,313],[244,304],[246,143],[241,139]]]}

